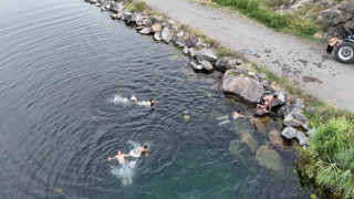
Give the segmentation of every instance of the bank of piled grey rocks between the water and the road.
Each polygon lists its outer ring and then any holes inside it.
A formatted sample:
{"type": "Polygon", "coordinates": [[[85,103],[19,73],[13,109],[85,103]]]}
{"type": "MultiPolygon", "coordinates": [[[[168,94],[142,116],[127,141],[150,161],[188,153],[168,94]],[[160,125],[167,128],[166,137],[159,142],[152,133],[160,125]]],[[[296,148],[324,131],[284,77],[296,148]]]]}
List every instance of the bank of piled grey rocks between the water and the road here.
{"type": "MultiPolygon", "coordinates": [[[[309,129],[308,118],[302,113],[305,108],[308,112],[314,112],[313,107],[306,107],[302,98],[289,101],[287,91],[277,91],[266,80],[266,74],[258,74],[249,70],[243,66],[241,60],[218,57],[215,49],[210,48],[201,38],[198,38],[192,31],[187,30],[183,24],[150,11],[127,11],[124,1],[85,0],[85,2],[95,4],[102,11],[112,12],[111,18],[113,20],[121,20],[128,25],[134,25],[140,34],[150,35],[157,42],[175,44],[183,50],[185,55],[191,59],[189,65],[195,72],[211,74],[218,71],[219,73],[223,73],[220,90],[228,95],[240,98],[243,103],[254,105],[254,108],[262,97],[277,94],[279,96],[278,100],[271,103],[272,112],[263,112],[262,109],[257,109],[256,112],[256,116],[260,118],[259,121],[267,116],[283,119],[282,125],[284,129],[282,132],[271,130],[269,134],[270,139],[277,136],[281,136],[283,139],[295,138],[299,145],[305,148],[309,139],[315,134],[316,130],[314,128],[309,129]]],[[[251,119],[251,123],[258,130],[259,126],[261,126],[259,121],[257,118],[251,119]]],[[[251,139],[246,136],[244,140],[251,139]]],[[[271,143],[279,143],[279,140],[271,140],[271,143]]],[[[238,144],[231,142],[230,148],[230,151],[238,148],[238,144]]],[[[269,155],[269,157],[278,157],[275,150],[270,149],[268,146],[259,147],[259,149],[261,148],[264,150],[257,150],[257,159],[261,165],[278,170],[279,166],[269,164],[269,161],[262,158],[262,154],[269,155]]],[[[273,158],[274,163],[275,159],[279,159],[277,157],[273,158]]],[[[278,165],[281,164],[279,163],[278,165]]]]}

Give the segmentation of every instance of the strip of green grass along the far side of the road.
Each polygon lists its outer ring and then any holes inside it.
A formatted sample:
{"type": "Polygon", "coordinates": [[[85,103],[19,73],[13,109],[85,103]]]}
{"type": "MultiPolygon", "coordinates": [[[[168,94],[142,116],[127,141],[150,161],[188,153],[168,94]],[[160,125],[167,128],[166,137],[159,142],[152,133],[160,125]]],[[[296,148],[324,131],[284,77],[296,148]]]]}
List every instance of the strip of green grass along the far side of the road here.
{"type": "Polygon", "coordinates": [[[277,0],[214,0],[218,6],[228,7],[248,15],[256,21],[279,31],[292,33],[303,38],[312,38],[319,31],[314,20],[304,19],[300,14],[277,12],[272,4],[279,4],[277,0]]]}

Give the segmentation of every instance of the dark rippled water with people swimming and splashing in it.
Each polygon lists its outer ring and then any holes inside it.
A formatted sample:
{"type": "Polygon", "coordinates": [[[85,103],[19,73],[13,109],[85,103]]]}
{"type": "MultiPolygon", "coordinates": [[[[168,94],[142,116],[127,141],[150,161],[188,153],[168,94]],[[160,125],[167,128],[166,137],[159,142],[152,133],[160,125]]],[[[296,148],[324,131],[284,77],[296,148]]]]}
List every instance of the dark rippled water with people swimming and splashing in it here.
{"type": "Polygon", "coordinates": [[[0,1],[0,198],[309,198],[293,145],[260,166],[239,129],[267,136],[216,118],[247,106],[174,46],[82,0],[0,1]],[[107,161],[144,144],[127,170],[107,161]]]}

